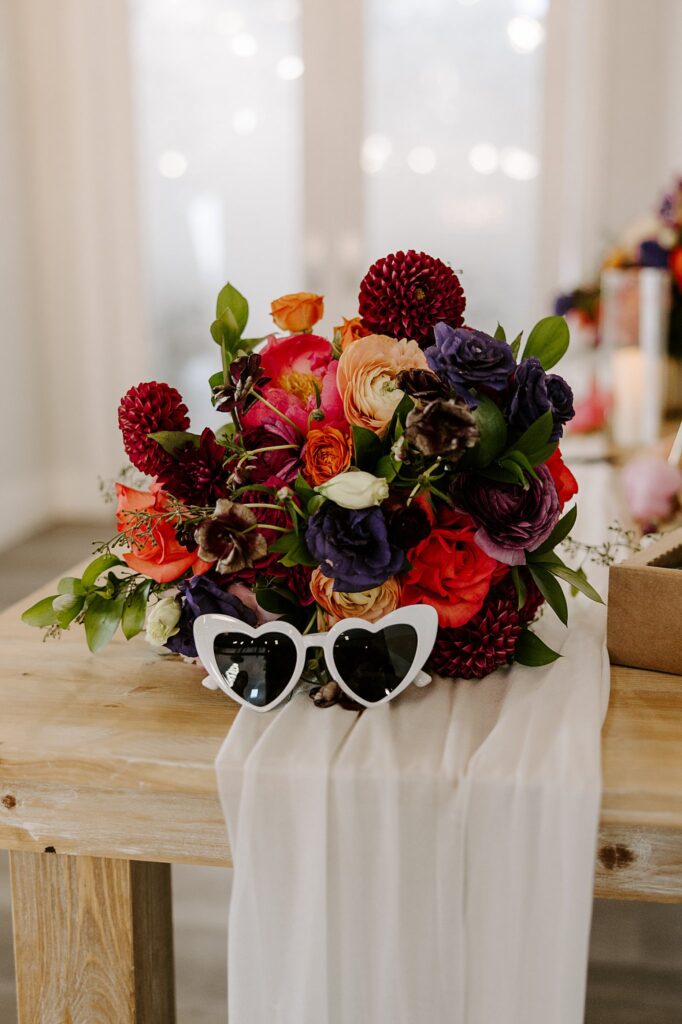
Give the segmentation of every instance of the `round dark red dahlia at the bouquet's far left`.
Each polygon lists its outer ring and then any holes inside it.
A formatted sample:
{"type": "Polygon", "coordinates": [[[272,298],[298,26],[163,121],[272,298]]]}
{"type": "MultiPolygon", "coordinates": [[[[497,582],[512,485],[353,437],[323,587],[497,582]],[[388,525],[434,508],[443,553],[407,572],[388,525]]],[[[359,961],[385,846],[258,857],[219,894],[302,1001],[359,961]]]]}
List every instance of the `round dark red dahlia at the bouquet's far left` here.
{"type": "Polygon", "coordinates": [[[119,427],[126,455],[135,469],[150,476],[173,462],[148,434],[159,430],[186,430],[187,407],[169,384],[148,381],[126,391],[119,406],[119,427]]]}

